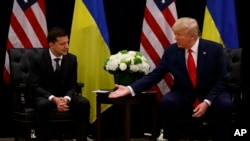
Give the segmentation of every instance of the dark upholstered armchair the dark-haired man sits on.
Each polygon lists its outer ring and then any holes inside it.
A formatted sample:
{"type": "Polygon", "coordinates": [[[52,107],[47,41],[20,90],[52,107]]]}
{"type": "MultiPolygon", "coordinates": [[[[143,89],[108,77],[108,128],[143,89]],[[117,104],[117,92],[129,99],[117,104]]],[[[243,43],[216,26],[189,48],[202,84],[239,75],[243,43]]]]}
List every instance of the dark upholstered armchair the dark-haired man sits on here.
{"type": "MultiPolygon", "coordinates": [[[[24,137],[27,141],[36,137],[34,109],[31,104],[33,94],[29,91],[28,76],[30,60],[42,51],[44,51],[43,48],[13,48],[9,50],[15,141],[18,141],[19,137],[24,137]]],[[[83,84],[78,83],[75,95],[82,95],[82,87],[83,84]]],[[[52,139],[74,139],[74,128],[71,127],[74,125],[73,113],[52,110],[50,122],[50,129],[53,131],[52,139]]]]}

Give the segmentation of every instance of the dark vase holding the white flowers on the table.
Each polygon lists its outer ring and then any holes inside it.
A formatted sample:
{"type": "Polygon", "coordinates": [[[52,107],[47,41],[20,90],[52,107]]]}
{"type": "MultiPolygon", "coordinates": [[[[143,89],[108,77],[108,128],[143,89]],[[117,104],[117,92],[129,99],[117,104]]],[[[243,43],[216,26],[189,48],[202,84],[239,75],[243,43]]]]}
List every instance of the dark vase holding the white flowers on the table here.
{"type": "Polygon", "coordinates": [[[119,85],[130,85],[139,79],[141,75],[137,73],[117,73],[115,74],[115,82],[119,85]]]}

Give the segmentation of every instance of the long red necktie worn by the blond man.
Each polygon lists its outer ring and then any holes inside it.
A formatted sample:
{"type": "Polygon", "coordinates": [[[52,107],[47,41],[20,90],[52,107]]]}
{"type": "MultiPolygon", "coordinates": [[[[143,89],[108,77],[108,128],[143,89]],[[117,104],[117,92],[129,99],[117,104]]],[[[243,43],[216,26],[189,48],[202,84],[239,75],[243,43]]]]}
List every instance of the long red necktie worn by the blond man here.
{"type": "MultiPolygon", "coordinates": [[[[196,88],[196,66],[194,63],[194,58],[193,58],[191,49],[188,49],[187,67],[188,67],[189,77],[192,81],[194,88],[196,88]]],[[[196,98],[193,103],[193,106],[196,107],[199,104],[200,104],[200,100],[196,98]]]]}

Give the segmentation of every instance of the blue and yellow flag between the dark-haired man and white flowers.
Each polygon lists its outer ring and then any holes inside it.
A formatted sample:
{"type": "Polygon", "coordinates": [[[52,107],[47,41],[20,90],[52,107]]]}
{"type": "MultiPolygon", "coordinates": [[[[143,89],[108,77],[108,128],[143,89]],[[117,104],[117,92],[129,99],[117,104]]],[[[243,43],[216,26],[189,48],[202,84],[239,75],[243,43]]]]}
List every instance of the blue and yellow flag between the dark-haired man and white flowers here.
{"type": "MultiPolygon", "coordinates": [[[[114,77],[103,68],[110,55],[109,35],[102,0],[75,0],[69,52],[77,56],[78,82],[84,83],[83,95],[90,101],[90,122],[96,119],[93,90],[111,89],[114,77]]],[[[104,111],[110,105],[103,105],[104,111]]]]}

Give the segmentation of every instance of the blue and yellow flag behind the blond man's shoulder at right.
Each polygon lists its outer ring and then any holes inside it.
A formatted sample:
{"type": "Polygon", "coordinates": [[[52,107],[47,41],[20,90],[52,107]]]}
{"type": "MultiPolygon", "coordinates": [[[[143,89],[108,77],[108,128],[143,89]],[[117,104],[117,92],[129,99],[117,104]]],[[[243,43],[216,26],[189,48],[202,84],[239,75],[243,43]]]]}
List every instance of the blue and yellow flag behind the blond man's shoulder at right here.
{"type": "Polygon", "coordinates": [[[202,38],[227,48],[239,47],[234,0],[207,0],[202,38]]]}

